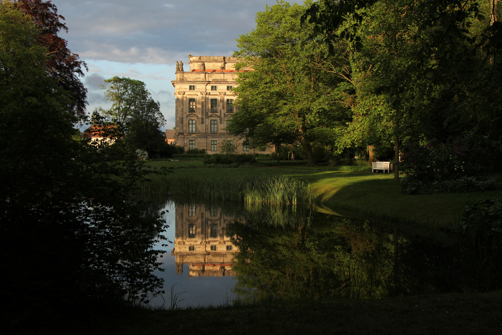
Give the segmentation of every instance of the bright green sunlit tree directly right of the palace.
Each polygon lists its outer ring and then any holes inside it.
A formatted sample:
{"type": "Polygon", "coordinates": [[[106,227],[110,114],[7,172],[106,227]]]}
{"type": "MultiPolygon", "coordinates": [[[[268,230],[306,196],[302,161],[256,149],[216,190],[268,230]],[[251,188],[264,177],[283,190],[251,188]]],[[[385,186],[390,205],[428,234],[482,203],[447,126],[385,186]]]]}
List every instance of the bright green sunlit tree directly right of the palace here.
{"type": "Polygon", "coordinates": [[[252,143],[298,141],[311,166],[312,143],[335,136],[349,121],[344,94],[351,87],[316,65],[335,58],[325,45],[306,41],[310,30],[299,22],[305,9],[285,2],[267,7],[257,14],[257,28],[237,39],[237,67],[253,70],[239,72],[239,110],[228,128],[252,143]]]}

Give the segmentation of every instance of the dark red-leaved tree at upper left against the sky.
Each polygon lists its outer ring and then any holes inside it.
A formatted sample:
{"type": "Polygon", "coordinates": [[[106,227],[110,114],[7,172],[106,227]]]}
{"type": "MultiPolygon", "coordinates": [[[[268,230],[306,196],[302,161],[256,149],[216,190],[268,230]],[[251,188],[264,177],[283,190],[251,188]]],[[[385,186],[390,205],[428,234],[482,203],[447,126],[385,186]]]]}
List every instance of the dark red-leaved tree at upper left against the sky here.
{"type": "Polygon", "coordinates": [[[73,99],[71,109],[74,115],[83,117],[87,105],[87,89],[79,77],[85,62],[68,49],[68,42],[58,36],[61,30],[68,31],[64,17],[57,14],[56,5],[43,0],[14,0],[14,6],[39,28],[37,41],[47,48],[45,67],[59,87],[70,92],[73,99]]]}

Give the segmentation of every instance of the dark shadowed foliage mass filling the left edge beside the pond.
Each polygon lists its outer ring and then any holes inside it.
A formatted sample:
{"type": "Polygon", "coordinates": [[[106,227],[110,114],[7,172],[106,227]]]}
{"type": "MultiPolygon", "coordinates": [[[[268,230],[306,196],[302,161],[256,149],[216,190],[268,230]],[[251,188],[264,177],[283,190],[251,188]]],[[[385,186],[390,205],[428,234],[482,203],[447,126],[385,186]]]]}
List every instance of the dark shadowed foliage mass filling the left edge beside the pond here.
{"type": "Polygon", "coordinates": [[[38,36],[31,19],[0,3],[0,322],[12,333],[12,320],[146,301],[162,286],[153,271],[164,221],[143,217],[130,197],[143,165],[121,141],[75,139],[74,100],[45,68],[38,36]],[[117,153],[122,160],[109,159],[117,153]]]}

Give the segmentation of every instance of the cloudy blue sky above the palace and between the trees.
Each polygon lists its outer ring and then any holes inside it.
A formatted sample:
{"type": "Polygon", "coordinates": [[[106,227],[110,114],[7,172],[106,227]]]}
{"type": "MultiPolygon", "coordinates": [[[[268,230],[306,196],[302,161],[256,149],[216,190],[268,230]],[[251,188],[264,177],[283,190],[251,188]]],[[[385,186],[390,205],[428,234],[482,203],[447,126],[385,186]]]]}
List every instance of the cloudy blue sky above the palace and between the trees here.
{"type": "Polygon", "coordinates": [[[231,56],[235,39],[255,28],[255,15],[275,0],[52,0],[65,18],[68,48],[89,71],[87,111],[107,108],[99,84],[113,76],[145,82],[174,127],[176,61],[193,56],[231,56]]]}

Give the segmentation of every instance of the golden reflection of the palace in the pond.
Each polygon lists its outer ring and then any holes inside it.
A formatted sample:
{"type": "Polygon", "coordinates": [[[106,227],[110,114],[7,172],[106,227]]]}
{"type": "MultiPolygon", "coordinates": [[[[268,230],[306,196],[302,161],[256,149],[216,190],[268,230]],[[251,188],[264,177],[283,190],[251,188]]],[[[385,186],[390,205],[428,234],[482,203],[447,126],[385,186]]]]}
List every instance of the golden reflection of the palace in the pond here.
{"type": "Polygon", "coordinates": [[[176,205],[176,238],[172,255],[176,273],[189,265],[189,276],[234,276],[233,254],[236,247],[225,235],[234,217],[221,214],[219,208],[204,205],[176,205]]]}

